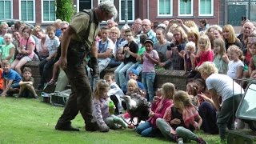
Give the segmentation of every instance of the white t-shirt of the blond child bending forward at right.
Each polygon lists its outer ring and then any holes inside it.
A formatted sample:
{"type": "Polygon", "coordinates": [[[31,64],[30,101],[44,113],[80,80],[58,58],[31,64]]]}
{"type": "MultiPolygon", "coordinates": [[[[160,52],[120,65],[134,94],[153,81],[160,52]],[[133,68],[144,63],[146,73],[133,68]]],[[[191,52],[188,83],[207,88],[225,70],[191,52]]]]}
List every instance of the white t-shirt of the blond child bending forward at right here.
{"type": "Polygon", "coordinates": [[[244,94],[242,87],[225,74],[211,74],[206,78],[206,86],[208,90],[216,90],[222,97],[222,102],[234,95],[244,94]]]}

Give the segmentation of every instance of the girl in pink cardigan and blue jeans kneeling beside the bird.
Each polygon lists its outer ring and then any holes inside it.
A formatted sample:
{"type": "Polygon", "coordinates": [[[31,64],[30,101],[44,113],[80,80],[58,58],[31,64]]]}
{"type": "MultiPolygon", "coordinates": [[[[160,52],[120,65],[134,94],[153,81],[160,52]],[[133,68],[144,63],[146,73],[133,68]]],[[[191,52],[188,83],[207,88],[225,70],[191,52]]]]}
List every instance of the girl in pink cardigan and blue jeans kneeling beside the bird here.
{"type": "Polygon", "coordinates": [[[153,137],[156,133],[158,127],[156,126],[157,118],[162,118],[166,112],[167,107],[173,105],[173,95],[175,92],[174,84],[167,82],[162,85],[161,93],[162,96],[154,96],[151,111],[150,111],[150,118],[140,124],[136,131],[138,134],[141,134],[142,137],[153,137]]]}

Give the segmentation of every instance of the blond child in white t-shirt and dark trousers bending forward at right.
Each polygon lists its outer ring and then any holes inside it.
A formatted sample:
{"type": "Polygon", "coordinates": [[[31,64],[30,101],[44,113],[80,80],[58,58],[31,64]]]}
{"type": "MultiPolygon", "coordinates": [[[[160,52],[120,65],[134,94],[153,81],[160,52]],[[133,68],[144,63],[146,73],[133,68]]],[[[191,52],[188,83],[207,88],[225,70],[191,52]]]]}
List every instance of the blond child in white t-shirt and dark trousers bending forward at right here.
{"type": "Polygon", "coordinates": [[[204,62],[199,72],[206,80],[206,87],[212,95],[217,114],[217,125],[222,142],[226,141],[226,127],[234,130],[235,112],[238,109],[244,90],[226,74],[218,74],[213,62],[204,62]],[[218,96],[222,97],[222,106],[218,96]]]}

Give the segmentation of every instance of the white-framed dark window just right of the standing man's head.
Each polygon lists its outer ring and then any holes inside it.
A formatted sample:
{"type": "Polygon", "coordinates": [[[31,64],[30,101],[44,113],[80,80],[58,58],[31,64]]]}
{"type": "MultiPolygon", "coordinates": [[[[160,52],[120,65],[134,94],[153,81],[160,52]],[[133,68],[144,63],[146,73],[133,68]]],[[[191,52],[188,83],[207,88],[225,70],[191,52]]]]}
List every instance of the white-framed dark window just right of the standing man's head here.
{"type": "MultiPolygon", "coordinates": [[[[120,0],[119,2],[119,22],[124,22],[126,20],[126,1],[120,0]]],[[[134,22],[134,0],[127,0],[127,14],[128,22],[134,22]]]]}

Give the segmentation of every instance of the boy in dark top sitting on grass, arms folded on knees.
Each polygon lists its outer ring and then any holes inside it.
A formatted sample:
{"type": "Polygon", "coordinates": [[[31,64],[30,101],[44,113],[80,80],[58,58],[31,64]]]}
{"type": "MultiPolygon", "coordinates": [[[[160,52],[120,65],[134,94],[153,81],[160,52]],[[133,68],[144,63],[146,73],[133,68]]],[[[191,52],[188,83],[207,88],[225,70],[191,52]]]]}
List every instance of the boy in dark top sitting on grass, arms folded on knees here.
{"type": "Polygon", "coordinates": [[[32,70],[29,67],[24,67],[22,74],[22,81],[19,82],[20,90],[18,98],[35,98],[38,99],[38,95],[34,90],[34,78],[32,77],[32,70]]]}

